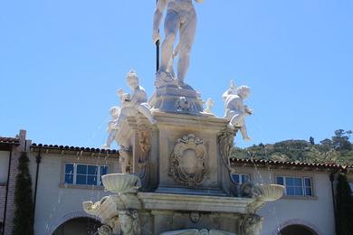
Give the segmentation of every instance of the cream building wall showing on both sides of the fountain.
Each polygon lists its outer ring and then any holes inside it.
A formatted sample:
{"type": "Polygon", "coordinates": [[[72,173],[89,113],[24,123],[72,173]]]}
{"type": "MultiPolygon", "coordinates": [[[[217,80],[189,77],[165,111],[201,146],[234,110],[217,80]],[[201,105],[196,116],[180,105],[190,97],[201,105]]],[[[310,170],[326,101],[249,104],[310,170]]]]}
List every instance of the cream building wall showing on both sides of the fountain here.
{"type": "MultiPolygon", "coordinates": [[[[30,170],[35,183],[35,155],[31,154],[30,170]]],[[[65,162],[89,164],[110,164],[110,173],[119,172],[117,159],[98,159],[96,156],[80,157],[77,155],[42,156],[40,164],[38,193],[35,208],[34,230],[36,235],[50,234],[63,222],[80,216],[88,216],[82,210],[82,202],[97,202],[110,193],[90,187],[65,187],[63,164],[65,162]]],[[[312,178],[314,196],[308,198],[283,197],[277,202],[269,202],[260,214],[264,216],[263,235],[276,234],[276,230],[290,224],[302,224],[320,235],[335,234],[332,197],[329,173],[263,170],[253,167],[235,168],[238,173],[250,173],[255,183],[275,183],[276,175],[309,176],[312,178]],[[319,228],[319,229],[318,229],[319,228]]]]}

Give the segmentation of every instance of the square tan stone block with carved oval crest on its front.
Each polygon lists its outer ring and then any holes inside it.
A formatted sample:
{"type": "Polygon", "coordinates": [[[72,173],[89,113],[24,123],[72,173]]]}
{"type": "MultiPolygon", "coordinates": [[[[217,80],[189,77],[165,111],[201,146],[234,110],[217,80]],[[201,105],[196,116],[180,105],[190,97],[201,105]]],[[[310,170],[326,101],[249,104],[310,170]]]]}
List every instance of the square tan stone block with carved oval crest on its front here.
{"type": "MultiPolygon", "coordinates": [[[[219,135],[223,118],[153,112],[157,119],[150,152],[157,193],[229,195],[229,174],[219,135]]],[[[152,178],[152,177],[150,177],[152,178]]]]}

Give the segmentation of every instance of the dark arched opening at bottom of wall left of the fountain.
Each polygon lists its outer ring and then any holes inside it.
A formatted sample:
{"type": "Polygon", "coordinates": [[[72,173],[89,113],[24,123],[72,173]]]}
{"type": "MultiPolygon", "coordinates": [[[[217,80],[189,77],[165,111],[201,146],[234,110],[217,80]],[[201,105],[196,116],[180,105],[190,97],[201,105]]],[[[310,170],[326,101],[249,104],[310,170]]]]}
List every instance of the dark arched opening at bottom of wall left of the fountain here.
{"type": "Polygon", "coordinates": [[[62,223],[52,235],[93,235],[100,226],[100,221],[89,217],[73,218],[62,223]]]}

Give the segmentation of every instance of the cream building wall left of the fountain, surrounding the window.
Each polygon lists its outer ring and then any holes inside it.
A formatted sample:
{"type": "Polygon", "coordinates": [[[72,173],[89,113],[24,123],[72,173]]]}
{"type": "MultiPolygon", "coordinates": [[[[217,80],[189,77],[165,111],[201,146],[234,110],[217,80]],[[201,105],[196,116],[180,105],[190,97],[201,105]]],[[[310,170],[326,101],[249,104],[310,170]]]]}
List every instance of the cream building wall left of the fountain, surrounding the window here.
{"type": "MultiPolygon", "coordinates": [[[[31,154],[31,174],[33,187],[35,183],[36,163],[35,156],[31,154]]],[[[106,159],[104,156],[77,155],[42,155],[39,167],[37,199],[35,206],[34,232],[36,235],[52,234],[64,221],[75,217],[87,216],[82,209],[82,202],[98,202],[104,192],[100,186],[70,186],[63,183],[64,163],[109,164],[110,173],[119,171],[117,158],[106,159]]],[[[34,192],[34,190],[33,190],[34,192]]]]}

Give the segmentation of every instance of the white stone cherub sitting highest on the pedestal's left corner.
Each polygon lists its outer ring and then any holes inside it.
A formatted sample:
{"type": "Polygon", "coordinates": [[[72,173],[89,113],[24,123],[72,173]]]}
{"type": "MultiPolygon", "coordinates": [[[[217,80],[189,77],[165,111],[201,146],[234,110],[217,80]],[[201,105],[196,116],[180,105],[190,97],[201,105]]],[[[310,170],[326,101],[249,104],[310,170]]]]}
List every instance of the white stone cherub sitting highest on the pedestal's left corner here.
{"type": "Polygon", "coordinates": [[[138,74],[133,70],[129,71],[127,82],[132,94],[125,93],[123,89],[117,90],[121,112],[114,128],[119,128],[123,120],[136,116],[138,112],[148,118],[151,124],[155,124],[156,119],[151,114],[146,91],[139,86],[138,74]]]}

